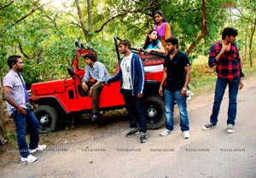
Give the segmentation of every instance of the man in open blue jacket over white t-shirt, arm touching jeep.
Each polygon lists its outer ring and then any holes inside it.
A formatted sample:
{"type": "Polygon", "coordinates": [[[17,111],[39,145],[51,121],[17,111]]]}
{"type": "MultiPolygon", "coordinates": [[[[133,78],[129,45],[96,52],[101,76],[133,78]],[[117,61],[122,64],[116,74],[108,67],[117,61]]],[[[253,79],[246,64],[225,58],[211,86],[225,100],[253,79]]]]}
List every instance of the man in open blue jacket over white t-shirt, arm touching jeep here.
{"type": "Polygon", "coordinates": [[[140,141],[147,141],[146,114],[143,109],[144,69],[143,62],[136,54],[131,53],[131,43],[125,39],[119,42],[119,52],[124,57],[119,61],[119,72],[109,78],[107,83],[120,80],[120,92],[125,100],[125,107],[130,118],[131,130],[126,137],[141,134],[140,141]],[[137,129],[137,124],[139,129],[137,129]]]}

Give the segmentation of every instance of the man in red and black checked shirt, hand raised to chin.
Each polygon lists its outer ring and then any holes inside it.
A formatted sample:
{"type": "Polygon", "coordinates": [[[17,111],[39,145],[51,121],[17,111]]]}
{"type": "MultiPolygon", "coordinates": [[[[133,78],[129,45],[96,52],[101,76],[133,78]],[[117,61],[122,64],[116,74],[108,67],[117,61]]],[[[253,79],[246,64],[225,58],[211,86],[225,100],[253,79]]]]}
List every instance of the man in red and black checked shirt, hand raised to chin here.
{"type": "Polygon", "coordinates": [[[234,43],[238,32],[236,28],[226,27],[222,32],[222,40],[213,43],[209,54],[208,65],[216,66],[217,81],[215,86],[214,103],[210,123],[202,129],[212,129],[218,123],[218,112],[223,100],[224,91],[229,85],[229,109],[227,119],[227,133],[234,132],[236,123],[236,106],[238,89],[243,88],[242,79],[244,74],[241,72],[241,59],[238,48],[234,43]]]}

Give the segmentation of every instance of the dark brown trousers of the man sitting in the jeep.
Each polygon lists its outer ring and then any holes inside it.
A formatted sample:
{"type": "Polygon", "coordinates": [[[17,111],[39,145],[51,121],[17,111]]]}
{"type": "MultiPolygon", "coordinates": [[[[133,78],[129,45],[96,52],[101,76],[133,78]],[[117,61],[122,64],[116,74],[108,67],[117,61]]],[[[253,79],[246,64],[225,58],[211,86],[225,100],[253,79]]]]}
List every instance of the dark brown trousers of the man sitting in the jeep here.
{"type": "MultiPolygon", "coordinates": [[[[95,83],[96,82],[88,82],[88,83],[86,83],[87,86],[88,86],[88,90],[85,91],[86,95],[88,95],[90,87],[92,85],[94,85],[95,83]]],[[[100,112],[100,109],[99,109],[99,96],[102,93],[103,86],[104,86],[103,84],[99,84],[99,85],[95,86],[92,89],[92,113],[96,113],[97,114],[97,113],[100,112]]]]}

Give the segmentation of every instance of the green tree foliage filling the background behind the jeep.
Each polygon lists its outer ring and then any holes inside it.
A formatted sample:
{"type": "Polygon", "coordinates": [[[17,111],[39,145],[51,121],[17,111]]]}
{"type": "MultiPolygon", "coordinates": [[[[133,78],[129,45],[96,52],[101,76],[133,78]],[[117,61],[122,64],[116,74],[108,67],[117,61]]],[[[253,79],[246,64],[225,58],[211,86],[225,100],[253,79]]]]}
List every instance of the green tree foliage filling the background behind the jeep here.
{"type": "MultiPolygon", "coordinates": [[[[56,1],[57,2],[57,1],[56,1]]],[[[142,46],[145,34],[154,26],[154,11],[164,12],[172,26],[172,34],[179,38],[179,49],[186,52],[201,34],[201,5],[197,0],[101,0],[91,4],[92,26],[88,23],[86,1],[79,1],[84,34],[74,0],[57,8],[44,1],[14,1],[0,10],[0,67],[9,71],[9,55],[22,55],[27,83],[67,78],[75,52],[74,40],[79,38],[96,49],[98,60],[110,73],[115,71],[117,56],[113,36],[128,38],[134,47],[142,46]]],[[[1,3],[0,8],[8,2],[1,3]]],[[[255,22],[255,4],[252,0],[206,1],[207,36],[198,43],[189,58],[193,63],[198,55],[207,55],[213,42],[220,40],[224,26],[239,30],[237,43],[241,49],[248,46],[247,32],[252,32],[255,22]],[[254,9],[253,9],[254,7],[254,9]],[[242,12],[239,12],[240,9],[242,12]],[[242,24],[242,25],[241,25],[242,24]],[[248,26],[248,29],[244,28],[248,26]]],[[[252,34],[253,35],[253,34],[252,34]]],[[[253,46],[255,43],[253,42],[253,46]]],[[[80,67],[84,67],[81,63],[80,67]]],[[[1,76],[3,77],[3,76],[1,76]]]]}

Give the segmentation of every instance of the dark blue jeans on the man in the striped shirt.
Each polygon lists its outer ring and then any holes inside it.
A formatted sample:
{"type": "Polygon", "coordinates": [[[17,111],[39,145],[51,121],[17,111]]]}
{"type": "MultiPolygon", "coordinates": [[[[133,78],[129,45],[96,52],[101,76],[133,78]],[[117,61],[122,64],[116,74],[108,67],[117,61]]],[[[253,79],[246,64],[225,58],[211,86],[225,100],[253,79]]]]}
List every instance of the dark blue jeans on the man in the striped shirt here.
{"type": "Polygon", "coordinates": [[[38,147],[39,141],[39,123],[34,113],[27,106],[26,116],[23,116],[19,112],[15,111],[11,115],[14,118],[16,126],[17,142],[19,146],[20,156],[26,158],[30,153],[26,144],[26,129],[30,133],[29,148],[35,149],[38,147]],[[27,125],[27,127],[26,127],[27,125]]]}

